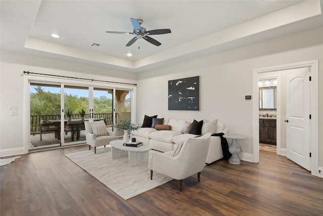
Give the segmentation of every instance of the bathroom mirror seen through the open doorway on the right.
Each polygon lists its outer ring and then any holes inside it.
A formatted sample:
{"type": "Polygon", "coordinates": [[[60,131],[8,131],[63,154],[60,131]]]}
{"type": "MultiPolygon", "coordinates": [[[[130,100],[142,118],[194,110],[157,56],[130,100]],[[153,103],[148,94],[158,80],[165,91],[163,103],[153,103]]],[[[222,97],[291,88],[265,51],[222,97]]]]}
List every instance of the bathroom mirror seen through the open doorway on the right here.
{"type": "Polygon", "coordinates": [[[276,110],[277,87],[259,88],[259,110],[276,110]]]}

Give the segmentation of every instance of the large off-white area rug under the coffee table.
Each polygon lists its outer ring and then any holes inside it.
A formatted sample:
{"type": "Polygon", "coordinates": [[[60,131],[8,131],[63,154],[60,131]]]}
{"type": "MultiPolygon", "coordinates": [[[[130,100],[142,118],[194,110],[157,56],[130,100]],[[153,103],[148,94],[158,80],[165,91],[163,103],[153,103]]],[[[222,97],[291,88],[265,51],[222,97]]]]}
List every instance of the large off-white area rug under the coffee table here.
{"type": "Polygon", "coordinates": [[[172,180],[157,173],[150,180],[148,163],[129,167],[128,157],[112,159],[110,148],[96,149],[96,154],[94,151],[82,151],[65,156],[124,199],[172,180]]]}

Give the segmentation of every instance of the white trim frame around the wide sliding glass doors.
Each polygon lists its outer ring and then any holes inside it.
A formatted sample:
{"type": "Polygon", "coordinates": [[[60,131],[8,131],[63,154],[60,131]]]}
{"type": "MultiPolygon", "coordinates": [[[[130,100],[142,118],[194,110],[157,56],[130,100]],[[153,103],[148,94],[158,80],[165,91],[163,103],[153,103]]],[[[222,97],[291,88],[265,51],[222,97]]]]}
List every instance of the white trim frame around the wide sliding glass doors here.
{"type": "MultiPolygon", "coordinates": [[[[135,122],[136,120],[136,86],[135,85],[127,85],[127,84],[115,84],[115,83],[104,83],[104,82],[96,82],[96,81],[81,81],[81,80],[72,80],[66,78],[54,78],[47,76],[34,76],[34,75],[24,75],[24,96],[23,96],[23,136],[24,136],[24,153],[29,152],[29,143],[30,143],[30,91],[29,91],[29,83],[30,82],[53,82],[59,83],[61,85],[79,85],[86,87],[100,87],[106,89],[121,89],[121,90],[129,90],[131,91],[131,122],[135,122]]],[[[61,86],[62,88],[62,86],[61,86]]],[[[62,89],[61,94],[61,103],[62,98],[64,102],[64,92],[62,89]]],[[[89,94],[90,95],[90,94],[89,94]]],[[[89,99],[90,100],[90,99],[89,99]]],[[[61,106],[62,109],[62,106],[61,106]]],[[[64,113],[61,110],[61,116],[64,116],[64,113]]],[[[64,127],[62,127],[64,128],[64,127]]],[[[62,132],[61,132],[62,133],[62,132]]],[[[77,143],[76,143],[77,144],[77,143]]]]}

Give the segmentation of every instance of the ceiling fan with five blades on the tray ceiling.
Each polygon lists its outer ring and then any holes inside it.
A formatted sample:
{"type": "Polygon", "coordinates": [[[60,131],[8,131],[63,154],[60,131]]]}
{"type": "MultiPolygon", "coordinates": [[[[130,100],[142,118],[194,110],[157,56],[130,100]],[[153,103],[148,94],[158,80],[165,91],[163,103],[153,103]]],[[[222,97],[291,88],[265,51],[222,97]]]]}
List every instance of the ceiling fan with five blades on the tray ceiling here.
{"type": "Polygon", "coordinates": [[[133,19],[130,18],[131,23],[134,27],[133,32],[123,32],[123,31],[105,31],[106,33],[114,33],[114,34],[133,34],[135,35],[134,38],[132,38],[128,44],[126,45],[126,47],[130,47],[131,45],[133,45],[133,43],[137,40],[137,39],[141,39],[144,38],[145,40],[147,40],[148,42],[150,42],[151,44],[155,45],[155,46],[160,46],[160,42],[155,40],[152,37],[149,37],[148,35],[155,35],[155,34],[168,34],[171,33],[171,29],[169,28],[165,28],[165,29],[155,29],[155,30],[150,30],[150,31],[146,31],[146,29],[144,27],[141,27],[141,24],[143,22],[142,19],[133,19]]]}

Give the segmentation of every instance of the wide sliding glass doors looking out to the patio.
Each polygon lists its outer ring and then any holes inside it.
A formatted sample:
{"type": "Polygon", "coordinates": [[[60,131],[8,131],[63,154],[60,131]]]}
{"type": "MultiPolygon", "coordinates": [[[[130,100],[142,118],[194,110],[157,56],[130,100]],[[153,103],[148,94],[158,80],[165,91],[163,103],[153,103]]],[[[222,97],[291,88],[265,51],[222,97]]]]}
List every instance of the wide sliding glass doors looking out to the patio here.
{"type": "Polygon", "coordinates": [[[134,122],[135,88],[39,79],[29,81],[28,150],[86,143],[84,121],[104,120],[111,131],[121,119],[134,122]]]}

